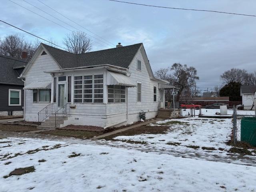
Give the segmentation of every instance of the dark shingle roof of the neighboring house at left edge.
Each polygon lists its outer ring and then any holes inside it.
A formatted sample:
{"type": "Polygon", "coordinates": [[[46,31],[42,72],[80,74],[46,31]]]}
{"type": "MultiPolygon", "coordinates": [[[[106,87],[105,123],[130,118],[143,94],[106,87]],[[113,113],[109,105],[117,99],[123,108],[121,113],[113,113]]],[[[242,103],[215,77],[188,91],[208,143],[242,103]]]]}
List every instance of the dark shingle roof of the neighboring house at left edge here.
{"type": "Polygon", "coordinates": [[[0,55],[0,83],[24,85],[24,82],[18,79],[17,70],[13,68],[26,66],[26,64],[26,60],[0,55]]]}

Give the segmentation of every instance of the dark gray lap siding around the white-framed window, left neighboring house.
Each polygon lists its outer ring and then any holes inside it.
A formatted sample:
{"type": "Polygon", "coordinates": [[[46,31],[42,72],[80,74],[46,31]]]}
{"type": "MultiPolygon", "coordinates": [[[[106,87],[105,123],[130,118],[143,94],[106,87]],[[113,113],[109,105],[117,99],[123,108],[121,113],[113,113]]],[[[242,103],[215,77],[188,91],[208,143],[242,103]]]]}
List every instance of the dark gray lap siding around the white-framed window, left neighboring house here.
{"type": "Polygon", "coordinates": [[[23,86],[0,84],[0,111],[20,111],[24,106],[23,86]],[[21,90],[21,106],[8,106],[9,89],[21,90]]]}

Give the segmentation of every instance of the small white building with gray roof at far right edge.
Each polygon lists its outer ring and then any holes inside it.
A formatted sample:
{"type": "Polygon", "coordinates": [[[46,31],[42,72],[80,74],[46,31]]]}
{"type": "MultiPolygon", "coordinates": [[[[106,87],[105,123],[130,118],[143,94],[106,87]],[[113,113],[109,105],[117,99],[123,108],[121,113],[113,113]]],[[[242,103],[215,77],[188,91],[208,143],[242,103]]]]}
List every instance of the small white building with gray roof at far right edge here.
{"type": "Polygon", "coordinates": [[[242,104],[245,110],[253,110],[254,105],[254,93],[256,86],[253,85],[242,85],[240,88],[240,95],[242,96],[242,104]]]}

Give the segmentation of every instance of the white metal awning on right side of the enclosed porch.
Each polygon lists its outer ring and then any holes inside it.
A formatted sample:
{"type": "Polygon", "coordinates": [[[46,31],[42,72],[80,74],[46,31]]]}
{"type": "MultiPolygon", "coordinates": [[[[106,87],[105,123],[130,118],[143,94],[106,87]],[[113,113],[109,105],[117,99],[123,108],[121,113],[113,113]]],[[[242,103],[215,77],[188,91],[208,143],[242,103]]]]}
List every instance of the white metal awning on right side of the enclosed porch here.
{"type": "Polygon", "coordinates": [[[107,72],[107,85],[121,85],[126,87],[136,87],[136,84],[132,80],[122,73],[107,72]]]}

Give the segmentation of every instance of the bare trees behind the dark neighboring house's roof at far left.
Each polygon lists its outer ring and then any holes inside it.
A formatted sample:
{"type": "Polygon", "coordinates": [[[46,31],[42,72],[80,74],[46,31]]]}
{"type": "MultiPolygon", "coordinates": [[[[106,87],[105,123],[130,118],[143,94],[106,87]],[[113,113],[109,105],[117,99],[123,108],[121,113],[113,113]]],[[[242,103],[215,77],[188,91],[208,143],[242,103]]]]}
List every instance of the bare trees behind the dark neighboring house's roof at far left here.
{"type": "Polygon", "coordinates": [[[0,41],[0,54],[21,58],[22,52],[27,52],[28,57],[34,54],[33,44],[24,40],[23,36],[18,34],[8,35],[0,41]]]}

